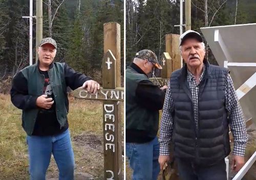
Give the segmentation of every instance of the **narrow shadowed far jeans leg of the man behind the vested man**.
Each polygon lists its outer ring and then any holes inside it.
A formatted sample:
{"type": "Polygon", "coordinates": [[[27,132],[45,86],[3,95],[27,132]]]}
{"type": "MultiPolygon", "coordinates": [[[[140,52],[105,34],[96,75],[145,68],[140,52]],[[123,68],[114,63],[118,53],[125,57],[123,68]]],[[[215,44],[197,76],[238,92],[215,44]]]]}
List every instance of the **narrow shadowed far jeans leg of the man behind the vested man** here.
{"type": "Polygon", "coordinates": [[[153,140],[153,175],[152,175],[153,180],[157,179],[158,174],[160,172],[160,165],[158,163],[159,149],[160,149],[160,145],[159,145],[158,138],[156,137],[153,140]]]}

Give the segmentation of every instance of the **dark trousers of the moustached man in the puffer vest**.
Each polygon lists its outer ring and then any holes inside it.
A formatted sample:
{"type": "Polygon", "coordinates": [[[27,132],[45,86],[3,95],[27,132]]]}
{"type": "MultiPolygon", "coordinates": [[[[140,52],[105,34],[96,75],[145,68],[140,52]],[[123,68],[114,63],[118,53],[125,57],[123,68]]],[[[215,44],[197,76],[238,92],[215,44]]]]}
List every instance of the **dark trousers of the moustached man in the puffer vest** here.
{"type": "Polygon", "coordinates": [[[182,180],[226,180],[226,163],[221,160],[212,166],[198,166],[184,160],[175,159],[182,180]]]}

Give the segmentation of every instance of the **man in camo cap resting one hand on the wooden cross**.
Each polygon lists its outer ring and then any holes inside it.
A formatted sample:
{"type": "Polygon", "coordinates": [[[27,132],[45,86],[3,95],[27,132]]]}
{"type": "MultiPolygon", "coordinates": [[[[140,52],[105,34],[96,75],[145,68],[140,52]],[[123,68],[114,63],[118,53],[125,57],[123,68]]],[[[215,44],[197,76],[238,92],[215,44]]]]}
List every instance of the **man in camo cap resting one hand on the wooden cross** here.
{"type": "Polygon", "coordinates": [[[27,133],[30,179],[45,179],[51,154],[59,179],[74,179],[74,153],[67,114],[67,87],[82,86],[96,93],[99,84],[75,72],[67,63],[53,62],[57,43],[47,37],[38,48],[39,60],[18,72],[11,88],[12,103],[23,110],[22,126],[27,133]]]}

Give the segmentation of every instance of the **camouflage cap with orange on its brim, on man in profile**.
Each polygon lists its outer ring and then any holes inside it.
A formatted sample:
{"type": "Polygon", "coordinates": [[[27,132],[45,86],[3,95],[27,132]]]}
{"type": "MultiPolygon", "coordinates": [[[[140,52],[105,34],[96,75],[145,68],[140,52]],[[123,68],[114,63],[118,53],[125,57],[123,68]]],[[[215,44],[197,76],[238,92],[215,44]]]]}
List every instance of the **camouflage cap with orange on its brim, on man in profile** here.
{"type": "Polygon", "coordinates": [[[162,66],[158,63],[156,54],[151,50],[141,50],[136,53],[136,57],[140,59],[147,59],[148,61],[152,62],[157,69],[162,69],[162,66]]]}

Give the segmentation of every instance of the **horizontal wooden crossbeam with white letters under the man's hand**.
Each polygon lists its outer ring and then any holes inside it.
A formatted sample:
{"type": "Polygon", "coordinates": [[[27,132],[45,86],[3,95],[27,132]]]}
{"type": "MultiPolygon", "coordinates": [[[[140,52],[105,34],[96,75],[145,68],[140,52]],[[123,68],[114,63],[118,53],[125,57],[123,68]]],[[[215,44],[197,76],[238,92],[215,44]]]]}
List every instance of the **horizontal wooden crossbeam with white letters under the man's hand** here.
{"type": "Polygon", "coordinates": [[[90,100],[123,101],[124,97],[123,87],[117,87],[115,89],[106,89],[100,87],[96,94],[90,94],[86,89],[79,87],[75,89],[72,94],[75,98],[90,100]]]}

